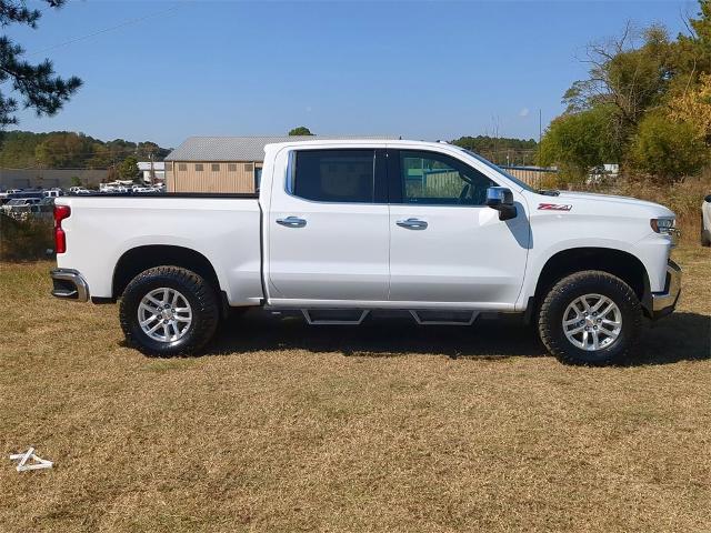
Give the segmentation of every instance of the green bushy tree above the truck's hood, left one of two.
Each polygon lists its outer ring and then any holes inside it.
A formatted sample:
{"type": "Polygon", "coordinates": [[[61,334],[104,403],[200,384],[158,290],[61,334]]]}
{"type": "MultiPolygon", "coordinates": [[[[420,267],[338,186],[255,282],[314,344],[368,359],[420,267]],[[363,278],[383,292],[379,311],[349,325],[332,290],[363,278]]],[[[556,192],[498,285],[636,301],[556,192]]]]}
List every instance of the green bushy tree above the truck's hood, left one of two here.
{"type": "Polygon", "coordinates": [[[611,134],[615,110],[597,105],[553,120],[541,140],[539,163],[558,165],[562,178],[582,181],[591,169],[620,159],[620,145],[611,134]]]}

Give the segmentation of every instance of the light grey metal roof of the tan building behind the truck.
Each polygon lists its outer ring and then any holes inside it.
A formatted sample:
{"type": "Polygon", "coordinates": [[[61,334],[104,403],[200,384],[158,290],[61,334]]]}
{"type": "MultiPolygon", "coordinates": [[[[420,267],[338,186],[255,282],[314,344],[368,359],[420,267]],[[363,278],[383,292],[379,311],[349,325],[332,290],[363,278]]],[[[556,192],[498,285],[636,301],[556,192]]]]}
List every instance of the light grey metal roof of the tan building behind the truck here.
{"type": "Polygon", "coordinates": [[[278,142],[394,140],[395,135],[190,137],[166,161],[263,161],[264,147],[278,142]]]}

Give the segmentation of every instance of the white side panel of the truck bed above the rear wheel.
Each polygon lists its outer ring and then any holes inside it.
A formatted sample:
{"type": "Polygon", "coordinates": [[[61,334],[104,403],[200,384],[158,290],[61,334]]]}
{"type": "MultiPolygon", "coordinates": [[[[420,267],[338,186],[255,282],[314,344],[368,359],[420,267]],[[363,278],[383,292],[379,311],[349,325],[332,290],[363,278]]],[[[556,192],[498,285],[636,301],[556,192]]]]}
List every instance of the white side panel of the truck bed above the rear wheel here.
{"type": "Polygon", "coordinates": [[[91,298],[118,295],[113,271],[127,252],[161,245],[208,259],[231,305],[259,304],[263,298],[261,210],[254,194],[97,193],[56,203],[71,209],[62,221],[67,252],[58,255],[58,266],[81,268],[91,298]]]}

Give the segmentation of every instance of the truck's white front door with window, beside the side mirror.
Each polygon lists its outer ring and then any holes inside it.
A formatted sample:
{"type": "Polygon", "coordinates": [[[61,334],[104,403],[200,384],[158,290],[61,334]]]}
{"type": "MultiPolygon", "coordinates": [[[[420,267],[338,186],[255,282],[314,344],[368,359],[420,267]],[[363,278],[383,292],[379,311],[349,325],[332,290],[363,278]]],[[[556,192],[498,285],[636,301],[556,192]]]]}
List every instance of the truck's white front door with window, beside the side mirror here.
{"type": "Polygon", "coordinates": [[[388,159],[390,300],[512,309],[529,245],[523,207],[500,221],[484,205],[487,188],[499,183],[453,157],[392,150],[388,159]]]}

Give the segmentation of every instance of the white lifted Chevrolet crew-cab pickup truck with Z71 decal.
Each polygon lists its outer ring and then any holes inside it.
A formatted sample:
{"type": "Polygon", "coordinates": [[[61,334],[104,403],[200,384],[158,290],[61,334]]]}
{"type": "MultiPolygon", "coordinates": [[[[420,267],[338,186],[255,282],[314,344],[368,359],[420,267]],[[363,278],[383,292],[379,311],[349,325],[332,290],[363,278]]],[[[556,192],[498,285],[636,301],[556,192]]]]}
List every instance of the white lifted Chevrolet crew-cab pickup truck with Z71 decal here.
{"type": "Polygon", "coordinates": [[[469,151],[417,141],[269,144],[259,195],[57,199],[53,294],[121,300],[127,340],[194,353],[230,308],[358,324],[520,313],[563,362],[619,362],[673,311],[674,214],[537,191],[469,151]]]}

